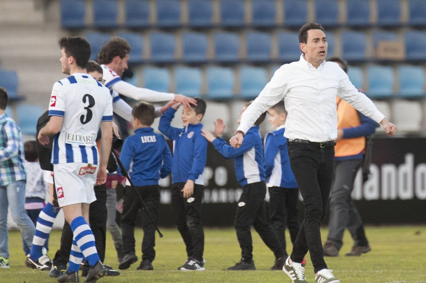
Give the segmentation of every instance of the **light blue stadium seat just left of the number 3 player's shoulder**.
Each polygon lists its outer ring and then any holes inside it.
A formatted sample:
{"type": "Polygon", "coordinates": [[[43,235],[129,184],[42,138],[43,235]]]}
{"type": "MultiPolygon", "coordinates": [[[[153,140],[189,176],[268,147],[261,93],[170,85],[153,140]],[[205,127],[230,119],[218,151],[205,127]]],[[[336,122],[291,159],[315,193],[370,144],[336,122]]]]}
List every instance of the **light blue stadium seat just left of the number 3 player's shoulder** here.
{"type": "MultiPolygon", "coordinates": [[[[46,109],[47,110],[47,109],[46,109]]],[[[16,106],[18,126],[22,134],[35,135],[37,119],[46,111],[43,107],[33,104],[20,103],[16,106]]]]}

